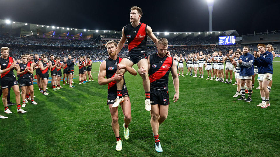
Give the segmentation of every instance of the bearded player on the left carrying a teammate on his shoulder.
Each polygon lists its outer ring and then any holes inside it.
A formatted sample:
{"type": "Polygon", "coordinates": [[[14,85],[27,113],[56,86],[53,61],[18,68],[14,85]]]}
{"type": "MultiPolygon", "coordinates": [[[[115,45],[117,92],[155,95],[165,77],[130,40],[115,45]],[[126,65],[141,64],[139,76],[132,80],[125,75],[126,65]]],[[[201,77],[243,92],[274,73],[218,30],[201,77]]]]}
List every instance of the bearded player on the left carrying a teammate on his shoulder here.
{"type": "Polygon", "coordinates": [[[124,74],[116,74],[117,64],[121,69],[122,68],[126,69],[132,75],[137,75],[137,72],[132,67],[128,67],[124,64],[120,64],[122,58],[118,57],[117,55],[118,48],[116,42],[109,41],[107,42],[105,47],[107,48],[109,57],[100,64],[99,73],[98,73],[98,83],[99,85],[108,84],[107,104],[109,105],[109,109],[111,113],[112,129],[114,131],[117,140],[116,150],[120,151],[122,150],[122,141],[120,138],[120,129],[119,129],[120,127],[118,123],[118,106],[113,108],[112,105],[115,102],[117,95],[122,94],[122,97],[124,97],[124,99],[123,101],[120,102],[120,106],[122,108],[124,121],[125,121],[125,123],[122,126],[124,129],[124,138],[127,140],[129,138],[128,125],[131,121],[131,104],[130,104],[127,88],[125,85],[125,81],[122,86],[122,92],[121,93],[118,92],[117,94],[116,81],[120,79],[124,80],[124,74]]]}

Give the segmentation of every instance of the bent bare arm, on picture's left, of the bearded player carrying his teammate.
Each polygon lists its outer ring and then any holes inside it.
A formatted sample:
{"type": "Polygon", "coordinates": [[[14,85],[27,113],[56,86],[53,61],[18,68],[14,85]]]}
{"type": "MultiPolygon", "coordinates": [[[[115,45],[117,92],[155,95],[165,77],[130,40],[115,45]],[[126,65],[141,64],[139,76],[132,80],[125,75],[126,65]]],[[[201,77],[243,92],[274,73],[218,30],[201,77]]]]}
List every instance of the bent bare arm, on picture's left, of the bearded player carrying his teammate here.
{"type": "Polygon", "coordinates": [[[105,77],[106,77],[106,61],[103,61],[99,67],[99,73],[98,73],[98,84],[99,85],[106,85],[110,82],[121,80],[123,77],[123,74],[115,74],[114,77],[111,77],[109,79],[105,79],[105,77]]]}

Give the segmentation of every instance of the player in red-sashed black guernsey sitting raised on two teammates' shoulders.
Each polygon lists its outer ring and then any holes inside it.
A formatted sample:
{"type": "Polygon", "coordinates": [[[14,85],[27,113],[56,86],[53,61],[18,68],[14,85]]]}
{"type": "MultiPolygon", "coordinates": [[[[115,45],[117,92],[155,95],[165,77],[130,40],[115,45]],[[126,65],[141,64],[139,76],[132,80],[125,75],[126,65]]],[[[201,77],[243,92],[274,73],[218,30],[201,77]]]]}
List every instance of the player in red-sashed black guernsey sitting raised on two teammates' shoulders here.
{"type": "MultiPolygon", "coordinates": [[[[133,6],[130,8],[130,10],[131,23],[122,28],[122,38],[118,43],[117,54],[124,46],[125,40],[127,39],[129,52],[125,56],[125,58],[122,59],[121,63],[129,67],[132,67],[132,65],[137,64],[139,69],[141,68],[147,71],[148,61],[145,53],[147,38],[149,36],[151,40],[153,40],[155,45],[157,45],[158,39],[153,34],[152,28],[150,26],[140,22],[140,19],[143,14],[141,8],[133,6]]],[[[170,52],[168,52],[168,55],[170,56],[170,52]]],[[[120,69],[119,67],[118,69],[119,70],[117,70],[117,74],[124,74],[126,72],[126,69],[120,69]]],[[[148,74],[140,74],[140,76],[143,79],[143,87],[145,90],[145,109],[147,111],[150,111],[150,80],[148,74]]],[[[123,79],[117,80],[118,97],[115,103],[113,104],[113,107],[117,107],[120,104],[120,102],[123,101],[122,86],[123,79]]]]}

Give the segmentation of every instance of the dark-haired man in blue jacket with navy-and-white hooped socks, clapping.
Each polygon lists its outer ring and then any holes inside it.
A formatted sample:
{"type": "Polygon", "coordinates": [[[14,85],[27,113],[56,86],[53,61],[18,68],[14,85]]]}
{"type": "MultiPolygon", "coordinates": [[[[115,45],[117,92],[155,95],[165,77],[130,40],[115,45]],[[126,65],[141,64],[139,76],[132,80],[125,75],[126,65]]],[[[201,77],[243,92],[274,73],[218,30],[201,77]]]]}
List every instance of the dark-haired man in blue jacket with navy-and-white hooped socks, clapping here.
{"type": "Polygon", "coordinates": [[[239,79],[241,80],[241,94],[237,100],[252,101],[252,75],[254,75],[253,55],[251,55],[248,46],[243,47],[243,55],[237,60],[237,67],[240,67],[239,79]],[[245,98],[245,82],[248,88],[248,98],[245,98]]]}

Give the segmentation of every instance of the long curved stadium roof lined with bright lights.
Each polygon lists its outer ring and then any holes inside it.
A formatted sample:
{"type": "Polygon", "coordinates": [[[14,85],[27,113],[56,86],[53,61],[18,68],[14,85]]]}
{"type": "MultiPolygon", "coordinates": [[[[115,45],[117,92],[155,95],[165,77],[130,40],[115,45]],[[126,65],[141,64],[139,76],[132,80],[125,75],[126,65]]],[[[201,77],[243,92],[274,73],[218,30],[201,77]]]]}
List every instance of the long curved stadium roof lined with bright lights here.
{"type": "MultiPolygon", "coordinates": [[[[36,33],[51,33],[55,31],[55,34],[65,34],[68,33],[70,35],[80,35],[83,37],[91,36],[91,38],[96,38],[99,35],[122,35],[121,31],[113,31],[113,30],[92,30],[92,29],[81,29],[81,28],[67,28],[61,26],[51,26],[46,24],[30,24],[24,22],[15,22],[5,19],[0,19],[0,29],[20,29],[21,34],[25,35],[36,35],[36,33]],[[82,34],[82,35],[81,35],[82,34]]],[[[228,36],[235,35],[239,36],[237,31],[213,31],[213,32],[154,32],[156,36],[161,36],[164,38],[172,39],[172,38],[215,38],[218,36],[228,36]]]]}

